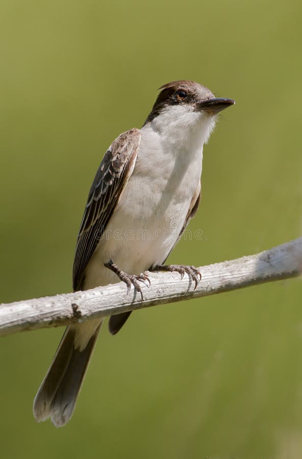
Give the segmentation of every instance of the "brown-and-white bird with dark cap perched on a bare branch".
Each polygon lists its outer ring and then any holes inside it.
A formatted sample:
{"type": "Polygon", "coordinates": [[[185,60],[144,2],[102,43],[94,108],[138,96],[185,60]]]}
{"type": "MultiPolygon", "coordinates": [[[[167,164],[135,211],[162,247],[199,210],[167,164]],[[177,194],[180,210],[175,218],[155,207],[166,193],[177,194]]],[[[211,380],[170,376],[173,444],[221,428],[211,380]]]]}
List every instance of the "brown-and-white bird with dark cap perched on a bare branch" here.
{"type": "MultiPolygon", "coordinates": [[[[73,290],[123,281],[142,295],[146,271],[185,273],[196,287],[194,266],[165,265],[201,193],[203,145],[217,115],[235,104],[205,86],[173,81],[159,88],[141,129],[120,134],[109,146],[90,188],[75,248],[73,290]]],[[[111,316],[115,335],[130,312],[111,316]]],[[[103,319],[67,326],[34,400],[38,422],[65,425],[74,410],[103,319]]]]}

